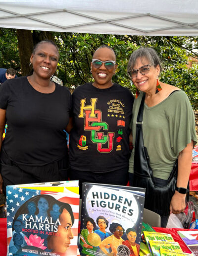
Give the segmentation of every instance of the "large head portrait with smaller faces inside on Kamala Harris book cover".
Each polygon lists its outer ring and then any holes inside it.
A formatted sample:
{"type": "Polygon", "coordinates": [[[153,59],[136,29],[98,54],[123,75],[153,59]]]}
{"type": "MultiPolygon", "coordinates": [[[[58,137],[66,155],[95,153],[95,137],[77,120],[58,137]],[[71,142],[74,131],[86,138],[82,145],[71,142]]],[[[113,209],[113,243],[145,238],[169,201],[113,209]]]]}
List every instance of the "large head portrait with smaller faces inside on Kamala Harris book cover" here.
{"type": "Polygon", "coordinates": [[[70,247],[70,240],[73,239],[71,227],[74,223],[74,214],[70,204],[61,202],[51,195],[36,195],[18,209],[14,221],[17,219],[23,223],[22,233],[27,243],[24,249],[60,256],[72,255],[71,252],[66,253],[70,247]],[[33,215],[30,215],[28,205],[37,205],[33,215]],[[54,211],[56,219],[53,214],[51,216],[54,211]]]}

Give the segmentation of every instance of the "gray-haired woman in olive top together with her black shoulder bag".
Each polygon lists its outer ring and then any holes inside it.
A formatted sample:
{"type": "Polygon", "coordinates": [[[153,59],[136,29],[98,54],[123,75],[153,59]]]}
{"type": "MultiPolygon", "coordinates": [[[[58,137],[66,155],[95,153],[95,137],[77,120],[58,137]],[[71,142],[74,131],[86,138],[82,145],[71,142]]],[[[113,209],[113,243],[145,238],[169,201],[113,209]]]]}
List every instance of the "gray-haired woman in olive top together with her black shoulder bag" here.
{"type": "Polygon", "coordinates": [[[162,66],[153,49],[134,51],[127,71],[137,88],[131,123],[134,148],[129,164],[130,186],[147,188],[145,208],[158,213],[161,227],[166,227],[169,214],[183,212],[186,207],[192,150],[197,141],[195,117],[185,92],[159,81],[162,66]],[[142,125],[137,120],[141,102],[142,125]]]}

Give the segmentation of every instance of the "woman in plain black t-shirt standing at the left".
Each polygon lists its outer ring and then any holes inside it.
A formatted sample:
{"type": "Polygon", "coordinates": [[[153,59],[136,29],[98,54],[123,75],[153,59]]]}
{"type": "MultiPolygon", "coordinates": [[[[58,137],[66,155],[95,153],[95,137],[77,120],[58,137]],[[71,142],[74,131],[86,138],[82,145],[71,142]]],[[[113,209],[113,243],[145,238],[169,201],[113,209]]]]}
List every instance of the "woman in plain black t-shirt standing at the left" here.
{"type": "Polygon", "coordinates": [[[54,42],[41,41],[30,57],[32,74],[0,87],[0,193],[2,184],[5,191],[6,185],[67,179],[71,94],[50,80],[58,59],[54,42]]]}

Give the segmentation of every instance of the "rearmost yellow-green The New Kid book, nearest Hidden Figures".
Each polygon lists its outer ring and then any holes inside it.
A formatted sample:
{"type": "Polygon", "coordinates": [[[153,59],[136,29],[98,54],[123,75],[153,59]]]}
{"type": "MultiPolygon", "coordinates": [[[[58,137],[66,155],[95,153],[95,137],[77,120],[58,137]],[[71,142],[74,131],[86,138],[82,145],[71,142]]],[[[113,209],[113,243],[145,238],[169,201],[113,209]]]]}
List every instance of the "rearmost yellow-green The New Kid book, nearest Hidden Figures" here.
{"type": "Polygon", "coordinates": [[[151,248],[150,248],[150,241],[167,241],[167,242],[174,242],[173,237],[171,234],[166,234],[166,233],[159,233],[159,232],[148,232],[148,231],[143,231],[145,241],[148,246],[148,250],[152,254],[151,248]]]}

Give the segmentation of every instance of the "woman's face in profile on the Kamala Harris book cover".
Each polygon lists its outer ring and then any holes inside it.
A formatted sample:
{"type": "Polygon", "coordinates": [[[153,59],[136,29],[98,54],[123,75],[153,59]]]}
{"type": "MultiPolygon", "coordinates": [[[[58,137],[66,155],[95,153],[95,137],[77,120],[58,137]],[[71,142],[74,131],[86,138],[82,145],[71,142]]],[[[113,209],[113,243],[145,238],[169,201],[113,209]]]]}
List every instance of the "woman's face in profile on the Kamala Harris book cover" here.
{"type": "Polygon", "coordinates": [[[51,236],[48,247],[53,253],[65,253],[70,245],[70,240],[73,239],[71,231],[72,220],[69,212],[64,208],[59,216],[60,225],[55,236],[51,236]]]}

